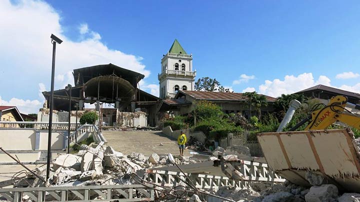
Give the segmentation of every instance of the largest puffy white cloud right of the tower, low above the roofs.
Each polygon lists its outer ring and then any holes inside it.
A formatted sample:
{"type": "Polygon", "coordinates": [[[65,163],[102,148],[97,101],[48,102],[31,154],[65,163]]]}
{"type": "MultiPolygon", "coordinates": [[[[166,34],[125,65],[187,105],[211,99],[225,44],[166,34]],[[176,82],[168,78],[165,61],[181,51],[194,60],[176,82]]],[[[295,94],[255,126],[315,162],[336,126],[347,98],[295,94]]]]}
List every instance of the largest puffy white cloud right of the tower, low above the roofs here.
{"type": "Polygon", "coordinates": [[[281,94],[294,93],[317,84],[330,85],[330,79],[320,75],[317,80],[314,80],[312,73],[302,73],[297,76],[286,75],[283,80],[278,78],[272,81],[265,80],[265,83],[259,86],[258,92],[277,97],[281,94]]]}

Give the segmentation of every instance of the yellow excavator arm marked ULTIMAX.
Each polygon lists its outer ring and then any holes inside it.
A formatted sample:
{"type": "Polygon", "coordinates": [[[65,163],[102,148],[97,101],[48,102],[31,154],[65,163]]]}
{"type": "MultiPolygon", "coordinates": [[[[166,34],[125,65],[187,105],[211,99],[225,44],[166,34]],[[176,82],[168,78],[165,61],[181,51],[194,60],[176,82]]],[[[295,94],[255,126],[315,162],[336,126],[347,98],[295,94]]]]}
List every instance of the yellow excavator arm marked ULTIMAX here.
{"type": "Polygon", "coordinates": [[[333,96],[325,107],[311,113],[311,121],[305,130],[326,129],[335,121],[360,129],[360,116],[347,111],[346,103],[346,96],[333,96]]]}

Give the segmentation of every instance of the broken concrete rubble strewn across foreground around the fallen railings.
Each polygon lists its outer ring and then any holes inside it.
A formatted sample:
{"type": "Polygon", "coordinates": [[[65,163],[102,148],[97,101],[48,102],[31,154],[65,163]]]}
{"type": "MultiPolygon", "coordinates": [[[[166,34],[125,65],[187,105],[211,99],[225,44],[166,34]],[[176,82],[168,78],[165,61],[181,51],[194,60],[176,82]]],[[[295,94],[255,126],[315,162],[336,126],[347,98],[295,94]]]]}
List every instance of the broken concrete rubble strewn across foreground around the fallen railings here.
{"type": "MultiPolygon", "coordinates": [[[[360,143],[360,139],[356,140],[360,143]]],[[[360,144],[357,145],[360,147],[360,144]]],[[[86,186],[86,185],[114,185],[136,184],[141,182],[136,172],[145,168],[157,168],[171,166],[173,163],[168,156],[152,153],[144,156],[142,153],[132,152],[124,155],[115,151],[110,146],[98,146],[96,148],[81,145],[82,150],[77,154],[59,155],[52,161],[49,186],[86,186]]],[[[231,161],[238,159],[254,159],[250,156],[249,149],[245,146],[233,145],[226,149],[217,147],[207,160],[218,161],[219,158],[231,161]]],[[[197,163],[199,161],[191,157],[175,156],[176,164],[197,163]]],[[[35,173],[45,177],[45,168],[38,167],[35,173]]],[[[312,185],[304,187],[292,184],[288,181],[283,183],[250,181],[251,188],[235,189],[232,186],[220,186],[218,189],[201,189],[196,192],[189,185],[179,183],[178,186],[167,191],[157,186],[157,201],[176,201],[178,198],[186,201],[226,201],[213,195],[227,198],[227,201],[254,201],[254,202],[317,202],[317,201],[359,201],[360,193],[344,193],[333,184],[326,184],[326,180],[308,172],[306,180],[312,185]],[[213,194],[211,196],[211,194],[213,194]],[[177,198],[173,195],[176,195],[177,198]]],[[[29,174],[25,178],[16,180],[14,187],[44,186],[41,180],[29,174]]],[[[51,197],[51,196],[46,196],[51,197]]],[[[72,196],[69,196],[72,197],[72,196]]],[[[73,196],[75,197],[75,196],[73,196]]],[[[92,199],[98,197],[94,194],[92,199]]],[[[1,199],[1,198],[0,198],[1,199]]],[[[51,198],[49,198],[51,199],[51,198]]]]}

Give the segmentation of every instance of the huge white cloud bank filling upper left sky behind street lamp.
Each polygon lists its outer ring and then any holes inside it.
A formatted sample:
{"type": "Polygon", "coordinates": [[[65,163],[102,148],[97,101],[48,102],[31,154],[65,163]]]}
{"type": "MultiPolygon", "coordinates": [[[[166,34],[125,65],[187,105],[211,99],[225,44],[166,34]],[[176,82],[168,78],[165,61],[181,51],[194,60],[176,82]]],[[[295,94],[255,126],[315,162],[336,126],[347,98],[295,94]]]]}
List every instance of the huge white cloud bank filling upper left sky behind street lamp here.
{"type": "MultiPolygon", "coordinates": [[[[78,30],[74,30],[79,31],[79,41],[68,38],[63,34],[60,14],[44,1],[0,0],[0,19],[0,66],[11,66],[7,69],[9,74],[26,73],[23,82],[41,83],[41,90],[45,85],[50,85],[51,33],[63,40],[56,46],[55,89],[63,88],[67,83],[73,84],[72,69],[96,64],[111,62],[146,77],[150,74],[141,63],[142,57],[107,47],[100,41],[101,35],[90,30],[87,23],[80,24],[78,30]]],[[[5,77],[1,81],[7,83],[11,82],[11,79],[13,78],[5,77]]],[[[146,89],[150,93],[158,94],[152,85],[146,89]]],[[[16,94],[1,90],[3,97],[14,96],[8,101],[1,99],[1,102],[35,104],[34,108],[38,108],[38,100],[15,98],[23,98],[21,94],[29,91],[36,93],[39,90],[19,88],[16,94]]],[[[32,97],[35,98],[36,94],[32,97]]],[[[43,98],[42,95],[41,97],[43,98]]]]}

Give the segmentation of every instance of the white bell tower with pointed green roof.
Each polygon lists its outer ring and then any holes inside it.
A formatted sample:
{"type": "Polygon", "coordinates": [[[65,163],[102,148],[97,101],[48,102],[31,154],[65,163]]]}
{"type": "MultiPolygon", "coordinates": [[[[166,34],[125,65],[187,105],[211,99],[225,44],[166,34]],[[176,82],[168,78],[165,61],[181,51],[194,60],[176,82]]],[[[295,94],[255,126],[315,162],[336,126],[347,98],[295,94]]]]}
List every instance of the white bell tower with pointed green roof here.
{"type": "Polygon", "coordinates": [[[161,73],[158,74],[159,97],[174,98],[179,90],[194,90],[196,71],[193,69],[192,54],[187,54],[175,39],[161,58],[161,73]]]}

